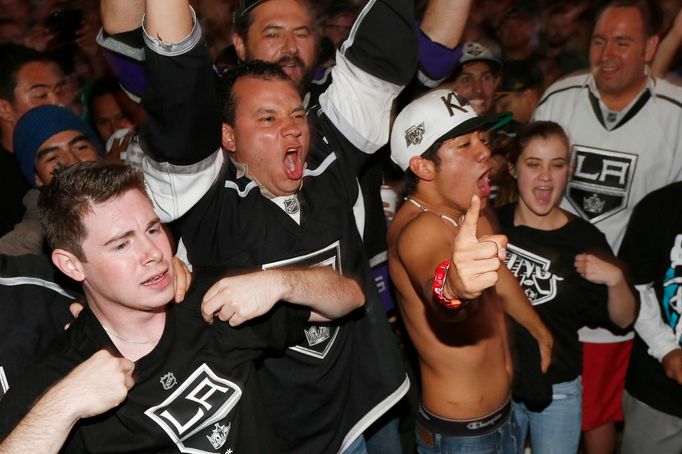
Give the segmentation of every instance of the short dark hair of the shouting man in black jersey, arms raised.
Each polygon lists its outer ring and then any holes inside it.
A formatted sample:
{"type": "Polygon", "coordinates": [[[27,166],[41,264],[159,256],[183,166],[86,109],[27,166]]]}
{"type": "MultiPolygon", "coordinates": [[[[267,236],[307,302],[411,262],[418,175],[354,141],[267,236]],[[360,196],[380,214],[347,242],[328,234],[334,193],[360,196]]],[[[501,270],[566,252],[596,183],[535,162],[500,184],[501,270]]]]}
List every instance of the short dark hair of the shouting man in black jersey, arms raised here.
{"type": "MultiPolygon", "coordinates": [[[[262,60],[249,60],[228,68],[220,77],[217,84],[218,105],[221,109],[223,123],[234,125],[237,111],[237,98],[234,96],[234,84],[243,77],[261,80],[283,80],[296,88],[287,74],[275,63],[262,60]]],[[[298,90],[297,90],[298,91],[298,90]]]]}

